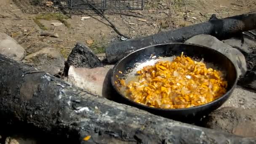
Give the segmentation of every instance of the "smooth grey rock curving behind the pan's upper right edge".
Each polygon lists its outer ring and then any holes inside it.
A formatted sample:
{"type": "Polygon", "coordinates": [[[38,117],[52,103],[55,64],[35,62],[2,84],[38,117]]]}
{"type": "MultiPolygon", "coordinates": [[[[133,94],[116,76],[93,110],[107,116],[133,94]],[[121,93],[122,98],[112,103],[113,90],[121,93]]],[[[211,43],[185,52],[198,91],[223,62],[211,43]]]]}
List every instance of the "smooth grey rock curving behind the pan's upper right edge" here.
{"type": "Polygon", "coordinates": [[[246,61],[243,53],[241,53],[236,48],[232,48],[232,46],[221,42],[216,37],[211,35],[196,35],[189,38],[185,43],[204,45],[223,53],[236,65],[239,76],[244,75],[247,71],[246,61]]]}

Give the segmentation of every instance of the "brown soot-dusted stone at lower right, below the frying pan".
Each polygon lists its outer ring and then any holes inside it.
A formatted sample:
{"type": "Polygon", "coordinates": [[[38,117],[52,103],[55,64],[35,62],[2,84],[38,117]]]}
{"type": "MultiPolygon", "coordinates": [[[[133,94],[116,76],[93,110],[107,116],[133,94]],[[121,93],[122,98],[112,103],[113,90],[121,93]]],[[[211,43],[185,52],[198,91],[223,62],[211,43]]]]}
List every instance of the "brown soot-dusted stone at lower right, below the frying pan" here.
{"type": "Polygon", "coordinates": [[[239,136],[256,136],[256,108],[239,109],[223,107],[203,119],[207,128],[225,131],[239,136]]]}

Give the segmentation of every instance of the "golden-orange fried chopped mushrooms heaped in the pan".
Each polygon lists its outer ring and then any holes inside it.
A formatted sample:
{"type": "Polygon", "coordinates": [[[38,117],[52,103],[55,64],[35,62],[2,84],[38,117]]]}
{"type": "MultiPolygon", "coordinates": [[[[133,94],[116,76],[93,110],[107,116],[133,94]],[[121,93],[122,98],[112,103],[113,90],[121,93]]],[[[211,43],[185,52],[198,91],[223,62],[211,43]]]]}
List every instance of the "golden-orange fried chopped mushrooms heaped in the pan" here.
{"type": "Polygon", "coordinates": [[[177,56],[158,61],[137,72],[137,81],[126,85],[126,96],[149,107],[179,109],[209,103],[226,93],[224,75],[200,61],[177,56]]]}

